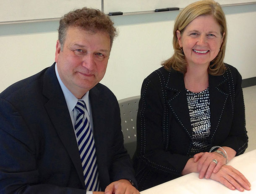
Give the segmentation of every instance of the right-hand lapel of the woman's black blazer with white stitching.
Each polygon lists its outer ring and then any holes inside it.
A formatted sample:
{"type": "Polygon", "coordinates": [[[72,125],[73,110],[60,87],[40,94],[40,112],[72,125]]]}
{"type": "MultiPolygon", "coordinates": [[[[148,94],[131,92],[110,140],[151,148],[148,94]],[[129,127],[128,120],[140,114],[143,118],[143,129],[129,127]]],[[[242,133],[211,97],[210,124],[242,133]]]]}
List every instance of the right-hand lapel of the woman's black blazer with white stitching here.
{"type": "Polygon", "coordinates": [[[219,127],[219,122],[222,119],[229,92],[227,79],[222,76],[209,75],[209,94],[210,94],[210,111],[211,111],[211,140],[219,127]]]}

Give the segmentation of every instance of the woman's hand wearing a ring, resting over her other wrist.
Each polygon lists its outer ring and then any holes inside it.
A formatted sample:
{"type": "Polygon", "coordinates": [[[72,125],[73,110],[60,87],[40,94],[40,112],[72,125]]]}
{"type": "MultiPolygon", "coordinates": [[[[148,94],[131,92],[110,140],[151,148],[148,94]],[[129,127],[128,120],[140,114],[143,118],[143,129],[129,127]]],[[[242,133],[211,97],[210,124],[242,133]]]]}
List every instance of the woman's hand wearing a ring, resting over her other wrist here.
{"type": "Polygon", "coordinates": [[[218,153],[201,152],[193,156],[194,162],[198,161],[197,170],[199,179],[209,179],[212,172],[217,173],[219,169],[226,164],[226,158],[218,153]],[[217,164],[214,161],[217,161],[217,164]]]}

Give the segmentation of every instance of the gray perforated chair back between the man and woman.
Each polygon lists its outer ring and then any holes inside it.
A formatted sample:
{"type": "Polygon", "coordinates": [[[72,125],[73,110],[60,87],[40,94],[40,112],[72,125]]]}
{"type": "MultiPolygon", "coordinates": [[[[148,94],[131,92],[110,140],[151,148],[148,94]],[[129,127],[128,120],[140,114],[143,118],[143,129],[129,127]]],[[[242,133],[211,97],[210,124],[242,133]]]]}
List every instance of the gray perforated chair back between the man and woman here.
{"type": "Polygon", "coordinates": [[[133,157],[137,144],[136,120],[140,97],[141,96],[134,96],[118,100],[124,146],[131,158],[133,157]]]}

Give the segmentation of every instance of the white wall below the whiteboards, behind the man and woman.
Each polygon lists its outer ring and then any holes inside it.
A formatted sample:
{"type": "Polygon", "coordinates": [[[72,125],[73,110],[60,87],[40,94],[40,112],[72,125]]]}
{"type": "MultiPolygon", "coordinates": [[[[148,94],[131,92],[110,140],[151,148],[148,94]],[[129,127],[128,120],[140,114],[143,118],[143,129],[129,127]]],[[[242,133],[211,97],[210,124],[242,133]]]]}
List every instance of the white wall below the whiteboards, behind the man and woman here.
{"type": "MultiPolygon", "coordinates": [[[[225,62],[243,79],[256,77],[256,4],[223,8],[228,25],[225,62]]],[[[112,17],[119,30],[102,83],[118,100],[140,94],[143,79],[172,53],[179,11],[112,17]]],[[[58,22],[0,25],[0,92],[54,62],[58,22]]]]}

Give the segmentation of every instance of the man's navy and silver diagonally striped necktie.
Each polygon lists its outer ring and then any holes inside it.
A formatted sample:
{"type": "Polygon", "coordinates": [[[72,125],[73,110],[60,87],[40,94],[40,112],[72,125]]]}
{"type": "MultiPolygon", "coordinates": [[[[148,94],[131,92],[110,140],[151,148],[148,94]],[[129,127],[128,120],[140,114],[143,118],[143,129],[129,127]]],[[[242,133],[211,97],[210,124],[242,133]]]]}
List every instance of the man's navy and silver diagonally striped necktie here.
{"type": "Polygon", "coordinates": [[[85,114],[87,109],[84,101],[78,100],[75,108],[78,110],[75,132],[82,167],[84,170],[84,184],[87,191],[99,191],[96,149],[91,125],[85,114]]]}

